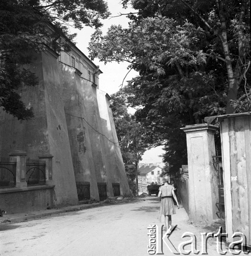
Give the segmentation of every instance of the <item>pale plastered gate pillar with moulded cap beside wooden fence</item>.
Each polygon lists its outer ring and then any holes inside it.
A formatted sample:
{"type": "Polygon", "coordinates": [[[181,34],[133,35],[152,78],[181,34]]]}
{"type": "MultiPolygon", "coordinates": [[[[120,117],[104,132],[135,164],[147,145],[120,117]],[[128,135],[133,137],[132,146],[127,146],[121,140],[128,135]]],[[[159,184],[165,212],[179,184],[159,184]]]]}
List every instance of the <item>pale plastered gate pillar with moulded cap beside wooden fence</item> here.
{"type": "Polygon", "coordinates": [[[217,219],[217,173],[213,166],[215,156],[214,132],[217,126],[203,124],[181,128],[187,137],[189,173],[189,218],[193,221],[217,219]]]}

